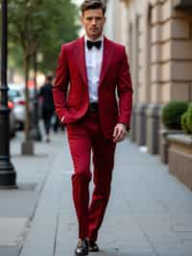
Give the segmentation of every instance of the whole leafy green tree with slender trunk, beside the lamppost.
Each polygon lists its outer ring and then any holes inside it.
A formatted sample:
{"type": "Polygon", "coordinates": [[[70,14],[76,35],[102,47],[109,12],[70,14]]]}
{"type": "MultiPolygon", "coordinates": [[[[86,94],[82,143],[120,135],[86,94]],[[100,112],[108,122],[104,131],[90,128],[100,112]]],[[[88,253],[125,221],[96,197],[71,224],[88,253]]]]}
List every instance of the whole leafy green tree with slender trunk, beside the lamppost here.
{"type": "MultiPolygon", "coordinates": [[[[30,60],[39,51],[44,54],[44,58],[47,56],[53,58],[61,41],[77,36],[76,9],[70,0],[57,0],[57,4],[54,0],[9,0],[8,3],[10,38],[14,45],[20,45],[23,50],[26,97],[25,150],[23,153],[32,154],[28,91],[30,60]]],[[[44,64],[44,68],[45,66],[47,64],[44,64]]]]}

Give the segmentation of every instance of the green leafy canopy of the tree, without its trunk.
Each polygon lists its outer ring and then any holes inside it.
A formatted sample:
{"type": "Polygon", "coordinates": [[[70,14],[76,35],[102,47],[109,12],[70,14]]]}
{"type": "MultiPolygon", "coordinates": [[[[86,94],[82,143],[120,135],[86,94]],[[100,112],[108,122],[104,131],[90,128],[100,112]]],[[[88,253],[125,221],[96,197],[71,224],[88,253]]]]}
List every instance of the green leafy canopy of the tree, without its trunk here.
{"type": "Polygon", "coordinates": [[[37,52],[43,56],[38,68],[54,70],[60,44],[78,37],[76,5],[70,0],[8,0],[8,7],[11,63],[18,67],[22,52],[25,57],[37,52]]]}

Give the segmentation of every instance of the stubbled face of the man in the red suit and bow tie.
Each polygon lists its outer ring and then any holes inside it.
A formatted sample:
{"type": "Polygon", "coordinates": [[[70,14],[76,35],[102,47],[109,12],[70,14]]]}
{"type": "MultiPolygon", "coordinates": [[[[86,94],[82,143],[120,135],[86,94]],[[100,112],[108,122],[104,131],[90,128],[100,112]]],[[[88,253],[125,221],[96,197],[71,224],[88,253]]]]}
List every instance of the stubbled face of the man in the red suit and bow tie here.
{"type": "Polygon", "coordinates": [[[82,23],[88,38],[95,40],[102,35],[106,17],[102,9],[91,9],[84,11],[82,23]]]}

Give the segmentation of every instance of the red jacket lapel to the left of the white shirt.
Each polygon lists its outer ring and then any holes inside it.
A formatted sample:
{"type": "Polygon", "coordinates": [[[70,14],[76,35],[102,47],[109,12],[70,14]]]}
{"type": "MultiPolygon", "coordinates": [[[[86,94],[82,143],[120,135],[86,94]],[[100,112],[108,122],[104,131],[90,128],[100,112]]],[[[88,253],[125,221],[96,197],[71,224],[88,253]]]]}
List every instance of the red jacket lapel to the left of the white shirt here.
{"type": "Polygon", "coordinates": [[[79,66],[79,70],[84,79],[84,84],[87,85],[88,82],[87,82],[87,74],[86,74],[86,66],[85,66],[84,37],[80,38],[77,41],[74,59],[76,60],[78,66],[79,66]],[[78,58],[78,56],[79,56],[79,58],[78,58]]]}

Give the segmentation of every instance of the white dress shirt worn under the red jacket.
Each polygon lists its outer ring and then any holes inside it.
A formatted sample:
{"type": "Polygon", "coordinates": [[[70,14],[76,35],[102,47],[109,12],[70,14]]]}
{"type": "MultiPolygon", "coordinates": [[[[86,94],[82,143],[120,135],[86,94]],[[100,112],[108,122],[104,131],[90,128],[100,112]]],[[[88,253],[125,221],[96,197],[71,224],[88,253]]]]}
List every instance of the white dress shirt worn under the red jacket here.
{"type": "MultiPolygon", "coordinates": [[[[101,48],[98,49],[93,46],[88,49],[86,46],[86,40],[91,40],[86,35],[84,36],[84,49],[85,49],[85,66],[86,74],[88,79],[88,91],[89,91],[89,102],[98,101],[98,87],[99,79],[103,61],[103,50],[104,50],[104,37],[101,36],[97,40],[102,41],[101,48]]],[[[96,41],[97,41],[96,40],[96,41]]]]}

